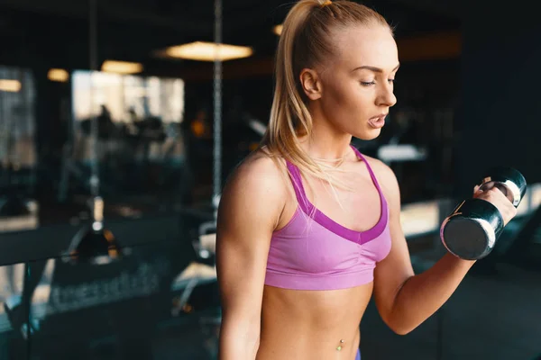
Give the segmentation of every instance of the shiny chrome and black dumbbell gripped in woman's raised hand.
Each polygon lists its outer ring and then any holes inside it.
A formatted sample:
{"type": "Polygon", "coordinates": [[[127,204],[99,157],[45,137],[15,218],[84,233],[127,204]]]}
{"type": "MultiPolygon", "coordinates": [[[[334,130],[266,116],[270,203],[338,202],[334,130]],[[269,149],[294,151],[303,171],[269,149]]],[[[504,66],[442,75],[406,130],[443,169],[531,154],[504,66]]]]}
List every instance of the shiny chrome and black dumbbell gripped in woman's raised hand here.
{"type": "MultiPolygon", "coordinates": [[[[481,190],[500,189],[513,206],[518,207],[526,193],[526,179],[511,167],[494,167],[483,177],[481,190]]],[[[496,206],[482,199],[460,203],[442,222],[440,238],[450,253],[466,260],[479,260],[489,255],[504,224],[496,206]]]]}

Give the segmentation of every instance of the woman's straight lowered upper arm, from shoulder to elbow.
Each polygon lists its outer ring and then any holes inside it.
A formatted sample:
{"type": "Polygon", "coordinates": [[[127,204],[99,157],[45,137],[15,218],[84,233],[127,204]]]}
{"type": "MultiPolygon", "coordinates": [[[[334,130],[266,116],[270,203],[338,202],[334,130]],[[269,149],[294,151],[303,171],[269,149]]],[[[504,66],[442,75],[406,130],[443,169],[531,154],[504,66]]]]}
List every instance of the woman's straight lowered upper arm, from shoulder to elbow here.
{"type": "Polygon", "coordinates": [[[216,233],[216,271],[224,320],[233,321],[241,332],[254,327],[259,330],[271,235],[283,206],[280,186],[267,169],[269,164],[251,166],[240,169],[226,185],[216,233]]]}

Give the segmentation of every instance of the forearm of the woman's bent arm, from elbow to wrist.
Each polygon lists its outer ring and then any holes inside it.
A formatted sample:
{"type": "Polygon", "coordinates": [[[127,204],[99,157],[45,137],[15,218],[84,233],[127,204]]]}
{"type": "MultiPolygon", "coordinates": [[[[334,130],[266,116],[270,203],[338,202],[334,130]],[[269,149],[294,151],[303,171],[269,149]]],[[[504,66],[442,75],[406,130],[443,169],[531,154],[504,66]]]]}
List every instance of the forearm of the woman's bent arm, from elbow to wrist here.
{"type": "Polygon", "coordinates": [[[417,328],[451,297],[474,263],[446,254],[424,273],[408,278],[395,298],[390,328],[398,334],[417,328]]]}

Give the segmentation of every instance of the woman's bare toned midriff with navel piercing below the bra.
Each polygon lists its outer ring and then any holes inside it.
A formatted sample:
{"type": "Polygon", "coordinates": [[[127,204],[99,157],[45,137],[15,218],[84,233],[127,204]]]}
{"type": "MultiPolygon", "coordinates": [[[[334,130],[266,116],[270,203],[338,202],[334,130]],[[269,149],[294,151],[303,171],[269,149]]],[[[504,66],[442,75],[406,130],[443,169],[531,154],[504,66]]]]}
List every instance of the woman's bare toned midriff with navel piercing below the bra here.
{"type": "Polygon", "coordinates": [[[353,360],[372,284],[334,291],[265,286],[257,360],[353,360]]]}

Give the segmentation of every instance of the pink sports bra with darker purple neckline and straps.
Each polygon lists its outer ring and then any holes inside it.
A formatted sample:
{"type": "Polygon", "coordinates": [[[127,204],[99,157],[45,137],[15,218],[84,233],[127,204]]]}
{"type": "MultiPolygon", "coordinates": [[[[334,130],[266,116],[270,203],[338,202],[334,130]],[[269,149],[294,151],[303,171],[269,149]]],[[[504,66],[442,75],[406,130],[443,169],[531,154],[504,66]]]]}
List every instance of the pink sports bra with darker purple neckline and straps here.
{"type": "Polygon", "coordinates": [[[331,220],[307,199],[298,167],[287,162],[298,208],[289,223],[272,234],[266,285],[335,290],[373,280],[376,263],[390,252],[389,209],[368,161],[357,148],[353,150],[366,164],[380,193],[380,220],[366,231],[347,229],[331,220]]]}

